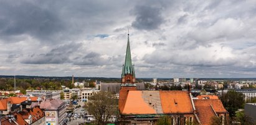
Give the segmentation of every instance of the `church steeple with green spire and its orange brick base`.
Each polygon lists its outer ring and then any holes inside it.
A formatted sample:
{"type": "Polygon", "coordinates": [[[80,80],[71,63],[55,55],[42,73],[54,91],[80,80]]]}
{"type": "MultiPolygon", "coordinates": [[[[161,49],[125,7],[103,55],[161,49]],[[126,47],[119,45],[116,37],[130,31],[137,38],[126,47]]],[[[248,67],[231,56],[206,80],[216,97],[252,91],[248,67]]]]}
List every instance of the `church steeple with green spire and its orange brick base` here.
{"type": "Polygon", "coordinates": [[[126,46],[125,64],[123,65],[121,77],[122,77],[123,84],[126,84],[126,83],[134,84],[134,82],[135,82],[134,65],[131,63],[129,30],[128,30],[128,40],[127,40],[127,46],[126,46]]]}

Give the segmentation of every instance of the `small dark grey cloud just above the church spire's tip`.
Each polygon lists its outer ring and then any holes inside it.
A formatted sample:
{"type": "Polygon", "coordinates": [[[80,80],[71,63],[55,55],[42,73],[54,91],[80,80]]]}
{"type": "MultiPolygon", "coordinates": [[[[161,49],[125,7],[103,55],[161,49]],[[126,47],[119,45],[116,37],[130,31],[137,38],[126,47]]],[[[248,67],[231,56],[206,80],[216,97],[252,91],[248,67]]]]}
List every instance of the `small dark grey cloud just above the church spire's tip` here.
{"type": "Polygon", "coordinates": [[[164,22],[159,7],[136,6],[133,14],[136,19],[131,26],[139,30],[155,30],[164,22]]]}

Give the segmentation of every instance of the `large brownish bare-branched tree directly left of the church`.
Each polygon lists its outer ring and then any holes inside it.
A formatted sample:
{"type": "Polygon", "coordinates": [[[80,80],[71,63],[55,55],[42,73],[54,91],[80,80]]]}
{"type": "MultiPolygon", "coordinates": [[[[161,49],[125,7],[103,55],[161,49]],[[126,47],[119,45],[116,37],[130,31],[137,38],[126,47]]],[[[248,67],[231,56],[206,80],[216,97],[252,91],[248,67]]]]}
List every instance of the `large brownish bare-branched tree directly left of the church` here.
{"type": "Polygon", "coordinates": [[[111,116],[117,114],[118,100],[110,92],[93,93],[85,105],[89,114],[95,117],[96,123],[103,125],[108,123],[111,116]]]}

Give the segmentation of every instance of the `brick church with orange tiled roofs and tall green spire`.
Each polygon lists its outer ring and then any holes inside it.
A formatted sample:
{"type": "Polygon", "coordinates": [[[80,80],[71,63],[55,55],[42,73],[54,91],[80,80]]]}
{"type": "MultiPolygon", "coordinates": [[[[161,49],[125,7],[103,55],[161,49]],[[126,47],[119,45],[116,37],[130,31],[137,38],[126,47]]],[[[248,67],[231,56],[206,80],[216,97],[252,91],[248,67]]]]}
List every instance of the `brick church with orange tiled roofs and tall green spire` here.
{"type": "Polygon", "coordinates": [[[229,113],[216,95],[192,99],[190,90],[137,90],[135,80],[128,34],[118,101],[120,124],[156,124],[163,116],[168,116],[172,125],[207,125],[214,117],[229,124],[229,113]]]}

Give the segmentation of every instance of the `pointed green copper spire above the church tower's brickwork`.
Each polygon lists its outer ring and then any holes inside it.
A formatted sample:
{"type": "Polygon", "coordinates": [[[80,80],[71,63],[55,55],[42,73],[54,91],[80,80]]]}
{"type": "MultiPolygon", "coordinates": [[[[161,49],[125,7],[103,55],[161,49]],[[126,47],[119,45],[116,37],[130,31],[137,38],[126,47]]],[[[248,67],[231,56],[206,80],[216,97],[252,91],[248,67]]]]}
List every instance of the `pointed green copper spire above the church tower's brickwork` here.
{"type": "Polygon", "coordinates": [[[132,75],[135,74],[133,64],[131,64],[131,50],[130,50],[129,33],[128,33],[128,41],[127,41],[127,47],[126,47],[125,64],[123,65],[122,77],[125,74],[132,74],[132,75]]]}

